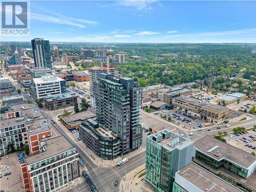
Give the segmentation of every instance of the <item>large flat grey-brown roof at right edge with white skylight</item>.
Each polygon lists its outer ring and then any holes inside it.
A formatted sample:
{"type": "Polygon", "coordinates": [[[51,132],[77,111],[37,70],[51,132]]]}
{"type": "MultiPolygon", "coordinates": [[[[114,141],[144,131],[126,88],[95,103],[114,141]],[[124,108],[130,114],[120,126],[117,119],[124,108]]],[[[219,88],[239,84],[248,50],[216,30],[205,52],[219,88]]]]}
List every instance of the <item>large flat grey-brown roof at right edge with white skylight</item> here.
{"type": "Polygon", "coordinates": [[[256,162],[256,157],[240,148],[224,143],[210,136],[205,136],[194,143],[198,151],[220,161],[227,159],[244,168],[248,168],[256,162]]]}

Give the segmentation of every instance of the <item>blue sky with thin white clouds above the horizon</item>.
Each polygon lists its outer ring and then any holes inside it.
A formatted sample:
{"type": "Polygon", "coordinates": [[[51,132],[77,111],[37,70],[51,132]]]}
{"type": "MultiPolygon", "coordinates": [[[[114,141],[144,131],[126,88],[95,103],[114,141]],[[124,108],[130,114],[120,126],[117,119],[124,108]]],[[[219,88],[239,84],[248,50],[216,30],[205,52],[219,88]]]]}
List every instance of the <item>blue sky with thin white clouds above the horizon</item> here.
{"type": "Polygon", "coordinates": [[[30,36],[2,40],[256,42],[256,1],[31,1],[30,36]]]}

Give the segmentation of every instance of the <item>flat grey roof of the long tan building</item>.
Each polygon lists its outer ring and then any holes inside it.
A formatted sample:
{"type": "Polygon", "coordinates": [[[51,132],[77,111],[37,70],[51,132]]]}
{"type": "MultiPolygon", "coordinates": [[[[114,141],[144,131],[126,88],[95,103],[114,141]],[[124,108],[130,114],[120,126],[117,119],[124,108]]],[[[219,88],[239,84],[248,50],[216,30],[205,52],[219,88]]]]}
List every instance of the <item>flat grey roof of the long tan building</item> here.
{"type": "Polygon", "coordinates": [[[228,110],[228,108],[226,108],[225,106],[206,103],[202,100],[195,99],[195,98],[192,98],[192,97],[176,97],[176,98],[173,98],[173,99],[178,100],[178,101],[182,101],[182,102],[186,102],[186,103],[189,103],[191,105],[199,106],[201,108],[210,109],[212,111],[222,112],[222,111],[228,110]]]}

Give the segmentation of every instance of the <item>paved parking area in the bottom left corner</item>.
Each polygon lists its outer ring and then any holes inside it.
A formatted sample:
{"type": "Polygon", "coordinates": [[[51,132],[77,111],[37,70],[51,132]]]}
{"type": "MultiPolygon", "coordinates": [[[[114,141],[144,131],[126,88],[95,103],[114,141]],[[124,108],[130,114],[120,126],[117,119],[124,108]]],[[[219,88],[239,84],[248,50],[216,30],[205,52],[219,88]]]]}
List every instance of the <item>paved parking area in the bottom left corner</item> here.
{"type": "Polygon", "coordinates": [[[20,180],[20,168],[18,164],[18,157],[16,154],[8,155],[8,159],[5,156],[1,157],[0,161],[0,172],[2,174],[2,178],[0,178],[0,188],[1,190],[6,191],[18,191],[22,187],[22,180],[20,180]],[[7,170],[2,170],[3,167],[9,167],[7,170]],[[11,172],[11,175],[4,176],[5,173],[11,172]]]}

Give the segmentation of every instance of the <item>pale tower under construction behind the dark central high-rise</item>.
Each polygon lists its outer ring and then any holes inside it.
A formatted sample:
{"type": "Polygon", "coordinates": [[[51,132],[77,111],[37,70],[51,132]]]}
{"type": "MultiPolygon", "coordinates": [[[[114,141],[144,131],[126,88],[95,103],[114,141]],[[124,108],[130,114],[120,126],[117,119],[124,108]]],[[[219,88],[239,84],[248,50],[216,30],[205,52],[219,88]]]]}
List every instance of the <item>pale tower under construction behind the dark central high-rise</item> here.
{"type": "MultiPolygon", "coordinates": [[[[90,80],[90,91],[91,91],[91,106],[95,110],[95,96],[94,96],[94,84],[93,82],[98,81],[99,73],[105,73],[108,71],[108,68],[106,65],[103,65],[102,67],[94,67],[89,68],[89,80],[90,80]]],[[[109,73],[115,74],[118,72],[118,68],[115,66],[109,67],[109,73]]]]}

